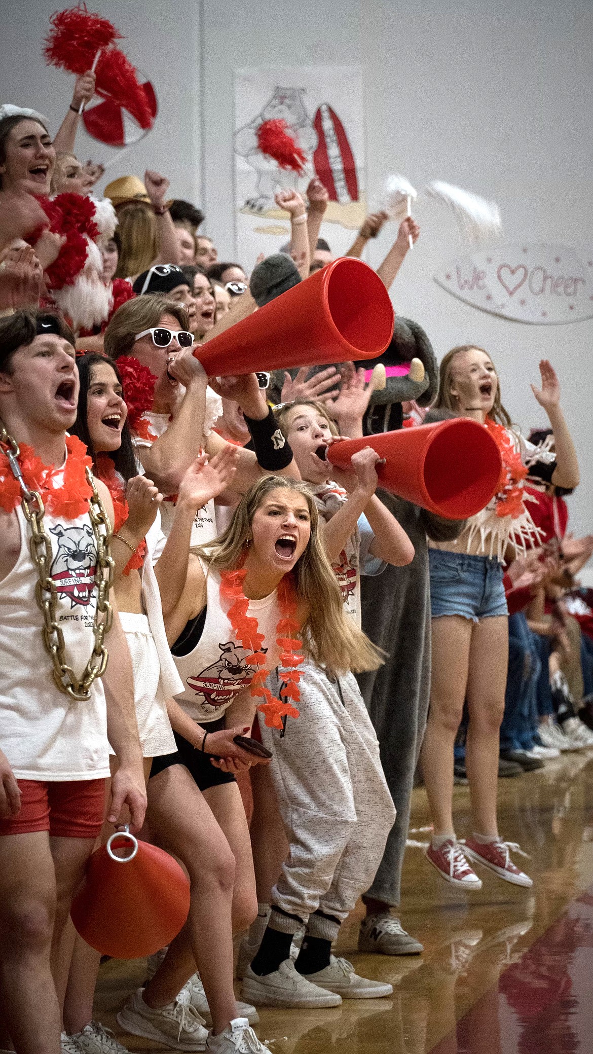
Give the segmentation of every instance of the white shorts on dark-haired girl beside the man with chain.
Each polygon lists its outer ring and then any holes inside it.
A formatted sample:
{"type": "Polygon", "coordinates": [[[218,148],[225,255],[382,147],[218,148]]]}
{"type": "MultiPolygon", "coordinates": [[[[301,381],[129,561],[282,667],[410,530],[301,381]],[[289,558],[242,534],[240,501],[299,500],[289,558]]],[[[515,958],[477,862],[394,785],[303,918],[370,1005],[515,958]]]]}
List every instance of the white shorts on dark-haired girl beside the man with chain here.
{"type": "MultiPolygon", "coordinates": [[[[157,758],[177,749],[166,701],[160,690],[160,663],[145,614],[120,611],[119,618],[134,671],[134,703],[142,757],[157,758]]],[[[108,648],[108,640],[107,640],[108,648]]]]}

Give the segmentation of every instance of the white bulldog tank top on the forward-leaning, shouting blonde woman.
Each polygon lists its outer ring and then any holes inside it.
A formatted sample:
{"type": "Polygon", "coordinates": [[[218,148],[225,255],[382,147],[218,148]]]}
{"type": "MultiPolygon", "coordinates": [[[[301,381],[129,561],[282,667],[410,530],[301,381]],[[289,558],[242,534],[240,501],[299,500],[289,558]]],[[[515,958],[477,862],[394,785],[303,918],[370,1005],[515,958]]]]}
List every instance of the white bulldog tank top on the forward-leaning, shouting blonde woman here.
{"type": "MultiPolygon", "coordinates": [[[[186,656],[175,656],[175,665],[184,690],[177,702],[194,721],[205,724],[218,721],[236,696],[249,687],[255,666],[245,662],[250,653],[237,642],[225,611],[220,607],[220,577],[209,570],[200,560],[206,575],[207,609],[201,637],[186,656]]],[[[276,626],[280,618],[276,590],[262,600],[250,600],[248,614],[257,619],[266,648],[265,668],[277,666],[280,650],[276,644],[276,626]]]]}

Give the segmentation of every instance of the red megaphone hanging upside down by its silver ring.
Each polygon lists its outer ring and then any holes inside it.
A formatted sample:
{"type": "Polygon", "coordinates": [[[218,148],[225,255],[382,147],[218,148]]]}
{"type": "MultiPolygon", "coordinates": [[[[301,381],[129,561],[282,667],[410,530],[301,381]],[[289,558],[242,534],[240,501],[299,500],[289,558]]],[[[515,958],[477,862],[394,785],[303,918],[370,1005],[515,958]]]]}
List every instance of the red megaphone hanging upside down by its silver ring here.
{"type": "Polygon", "coordinates": [[[93,853],[71,916],[83,940],[101,955],[141,959],[177,936],[189,911],[190,883],[177,860],[126,831],[116,832],[93,853]],[[114,853],[118,838],[132,847],[129,856],[114,853]]]}

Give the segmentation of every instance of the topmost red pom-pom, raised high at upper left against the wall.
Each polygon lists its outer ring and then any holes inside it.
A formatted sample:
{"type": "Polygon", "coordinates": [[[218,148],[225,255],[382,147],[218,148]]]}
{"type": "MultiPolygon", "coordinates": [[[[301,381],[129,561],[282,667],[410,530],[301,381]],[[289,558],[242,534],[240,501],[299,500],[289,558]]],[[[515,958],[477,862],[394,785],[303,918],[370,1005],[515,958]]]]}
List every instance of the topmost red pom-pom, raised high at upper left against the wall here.
{"type": "Polygon", "coordinates": [[[113,22],[86,9],[85,4],[57,11],[50,19],[43,55],[50,65],[82,74],[91,69],[97,52],[121,40],[113,22]]]}

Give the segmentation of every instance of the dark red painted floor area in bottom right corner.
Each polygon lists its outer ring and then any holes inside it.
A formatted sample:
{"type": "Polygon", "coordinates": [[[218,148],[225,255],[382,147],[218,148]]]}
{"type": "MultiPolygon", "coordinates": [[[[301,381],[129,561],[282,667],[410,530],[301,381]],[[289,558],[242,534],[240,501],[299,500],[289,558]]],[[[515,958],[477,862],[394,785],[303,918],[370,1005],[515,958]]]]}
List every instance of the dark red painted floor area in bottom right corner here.
{"type": "Polygon", "coordinates": [[[432,1048],[431,1054],[590,1054],[593,885],[432,1048]]]}

